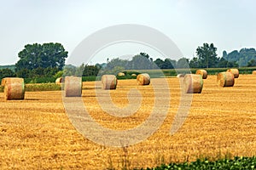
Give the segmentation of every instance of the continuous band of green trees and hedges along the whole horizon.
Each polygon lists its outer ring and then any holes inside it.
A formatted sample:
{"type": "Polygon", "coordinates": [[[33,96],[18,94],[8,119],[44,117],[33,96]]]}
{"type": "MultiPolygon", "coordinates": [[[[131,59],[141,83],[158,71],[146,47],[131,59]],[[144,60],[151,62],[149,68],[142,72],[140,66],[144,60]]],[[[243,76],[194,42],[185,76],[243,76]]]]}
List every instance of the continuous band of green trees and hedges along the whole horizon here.
{"type": "Polygon", "coordinates": [[[61,43],[27,44],[20,51],[20,58],[15,65],[5,65],[0,68],[0,79],[3,77],[43,78],[61,77],[62,75],[77,75],[96,77],[102,74],[117,74],[124,70],[153,70],[176,68],[227,68],[239,66],[256,66],[256,51],[254,48],[242,48],[231,53],[223,52],[222,57],[216,54],[213,43],[203,43],[196,48],[193,59],[183,57],[175,60],[172,56],[160,56],[153,59],[146,53],[134,55],[131,60],[114,58],[107,63],[96,65],[65,65],[67,51],[61,43]]]}

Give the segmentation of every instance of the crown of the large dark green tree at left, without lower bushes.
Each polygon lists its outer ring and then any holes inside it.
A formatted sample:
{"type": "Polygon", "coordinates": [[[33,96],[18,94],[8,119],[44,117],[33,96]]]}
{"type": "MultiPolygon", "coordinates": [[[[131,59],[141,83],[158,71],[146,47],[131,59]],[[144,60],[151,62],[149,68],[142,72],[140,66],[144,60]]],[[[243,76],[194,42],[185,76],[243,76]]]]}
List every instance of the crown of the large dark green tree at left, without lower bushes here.
{"type": "Polygon", "coordinates": [[[16,71],[37,68],[57,68],[59,71],[65,65],[67,51],[61,43],[27,44],[18,54],[20,60],[15,64],[16,71]]]}

